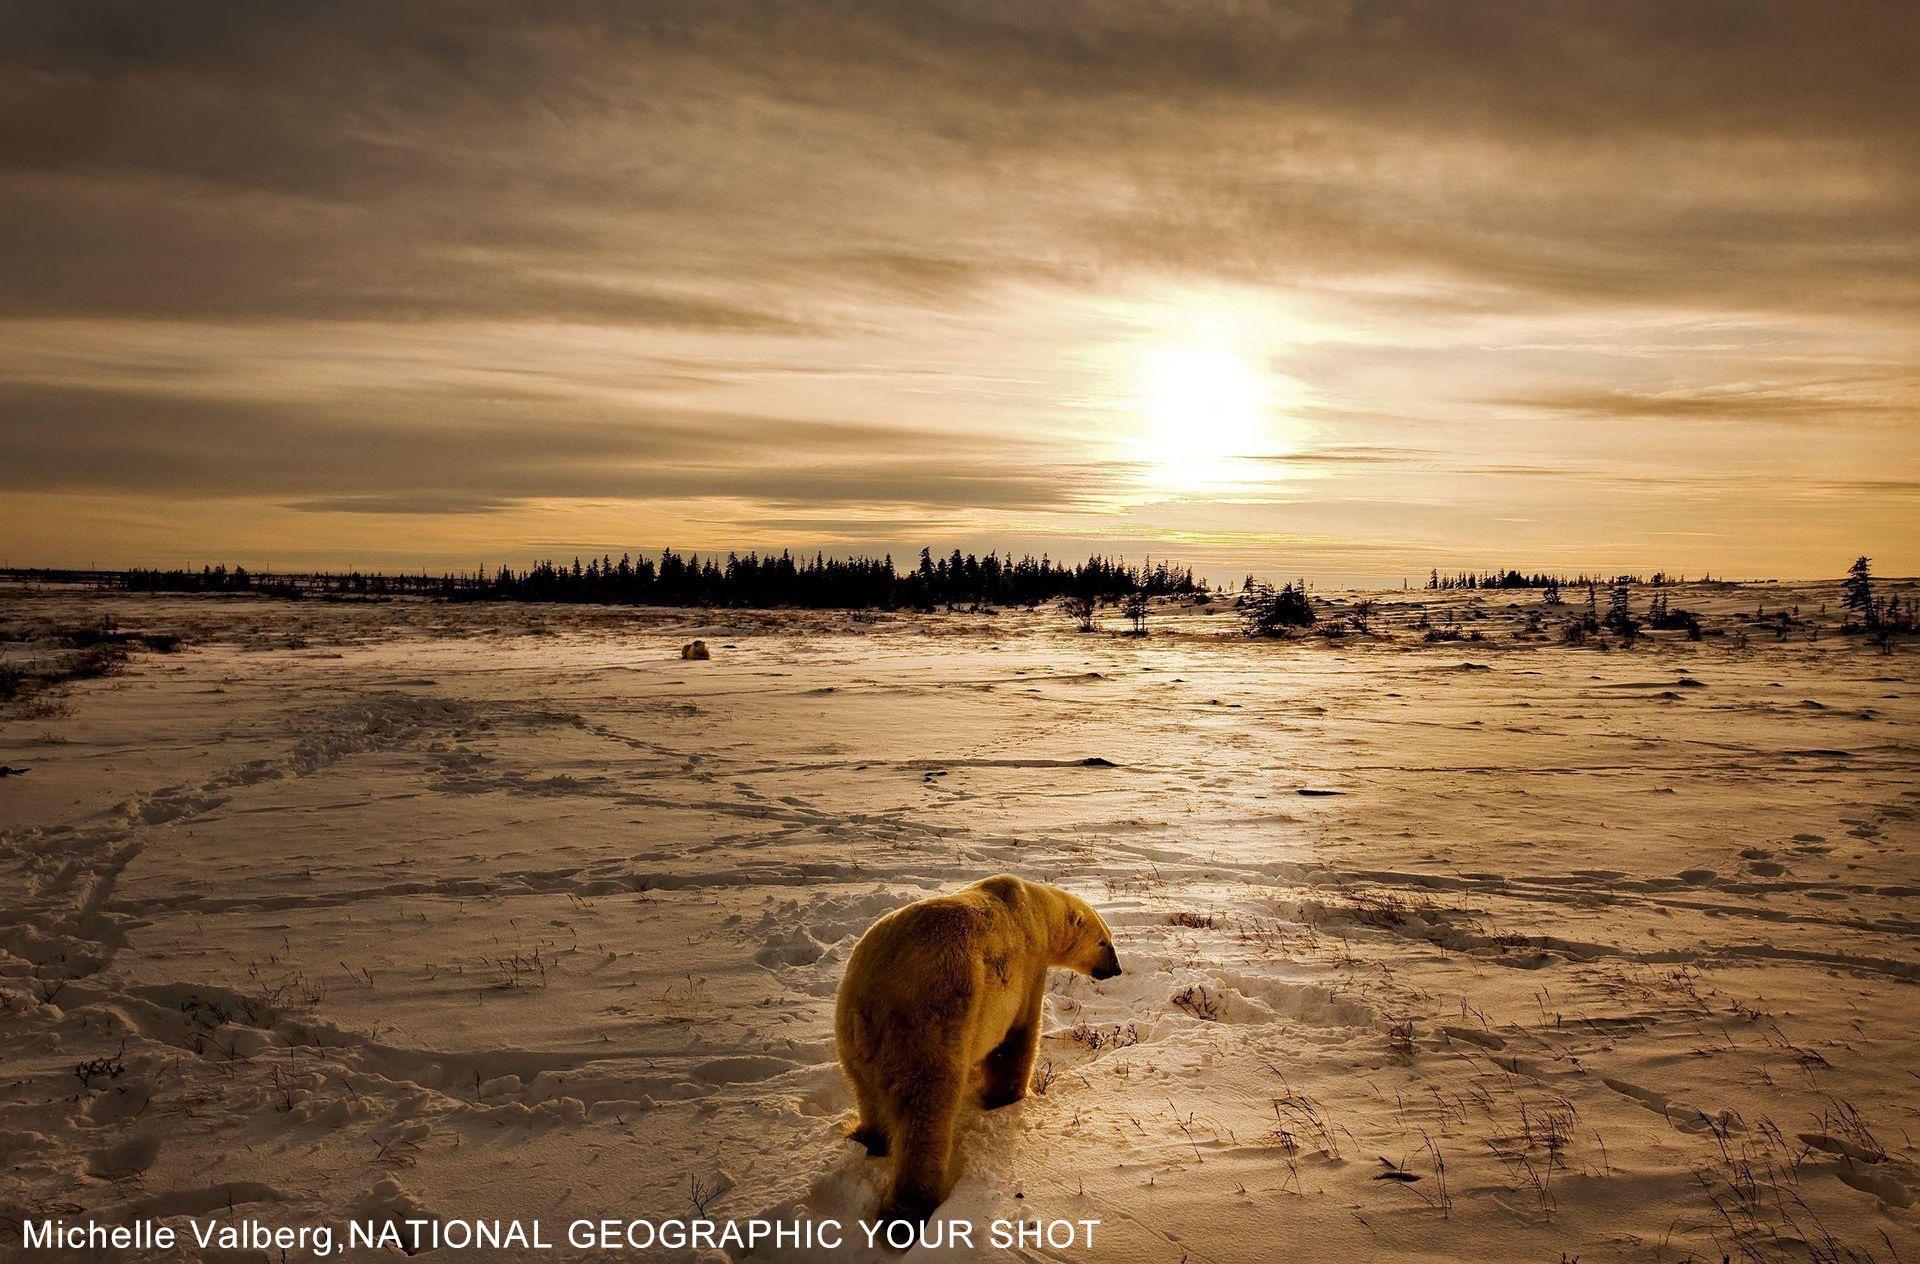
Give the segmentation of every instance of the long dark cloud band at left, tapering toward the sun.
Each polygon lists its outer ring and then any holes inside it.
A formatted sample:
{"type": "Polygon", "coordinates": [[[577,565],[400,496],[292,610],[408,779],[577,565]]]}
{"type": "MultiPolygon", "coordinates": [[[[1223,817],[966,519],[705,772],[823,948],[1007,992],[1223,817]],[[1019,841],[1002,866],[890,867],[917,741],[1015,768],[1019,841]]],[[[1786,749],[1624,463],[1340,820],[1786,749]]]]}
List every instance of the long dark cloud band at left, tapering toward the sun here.
{"type": "Polygon", "coordinates": [[[1064,509],[1114,474],[1020,469],[952,434],[632,415],[459,394],[217,400],[0,384],[0,486],[267,498],[303,513],[488,513],[547,499],[1064,509]]]}

